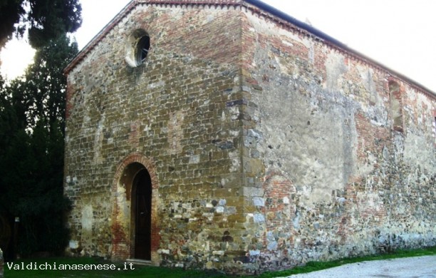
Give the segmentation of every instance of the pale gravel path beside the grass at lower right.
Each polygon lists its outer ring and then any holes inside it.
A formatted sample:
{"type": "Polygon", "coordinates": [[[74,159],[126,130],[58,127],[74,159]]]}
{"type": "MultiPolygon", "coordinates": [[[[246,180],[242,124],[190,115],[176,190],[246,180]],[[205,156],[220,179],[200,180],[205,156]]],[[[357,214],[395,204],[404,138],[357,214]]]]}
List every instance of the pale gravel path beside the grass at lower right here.
{"type": "Polygon", "coordinates": [[[341,267],[306,274],[295,274],[289,278],[428,278],[436,277],[436,256],[385,259],[382,261],[356,262],[341,267]]]}

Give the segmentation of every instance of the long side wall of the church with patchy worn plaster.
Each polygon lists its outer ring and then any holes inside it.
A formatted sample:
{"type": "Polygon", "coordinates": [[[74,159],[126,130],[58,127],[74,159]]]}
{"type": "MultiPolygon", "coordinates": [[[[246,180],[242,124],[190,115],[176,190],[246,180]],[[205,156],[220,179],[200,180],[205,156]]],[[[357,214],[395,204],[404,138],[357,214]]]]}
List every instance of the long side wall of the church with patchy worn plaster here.
{"type": "Polygon", "coordinates": [[[435,245],[435,96],[278,22],[243,19],[246,268],[435,245]]]}

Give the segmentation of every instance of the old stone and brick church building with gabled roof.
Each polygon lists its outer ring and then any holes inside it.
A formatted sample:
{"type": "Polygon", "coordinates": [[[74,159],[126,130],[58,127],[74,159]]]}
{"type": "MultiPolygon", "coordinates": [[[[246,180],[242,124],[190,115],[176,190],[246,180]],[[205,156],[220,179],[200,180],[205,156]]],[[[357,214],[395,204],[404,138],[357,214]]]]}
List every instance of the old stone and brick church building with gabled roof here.
{"type": "Polygon", "coordinates": [[[68,76],[70,254],[256,274],[436,244],[436,94],[256,0],[133,0],[68,76]]]}

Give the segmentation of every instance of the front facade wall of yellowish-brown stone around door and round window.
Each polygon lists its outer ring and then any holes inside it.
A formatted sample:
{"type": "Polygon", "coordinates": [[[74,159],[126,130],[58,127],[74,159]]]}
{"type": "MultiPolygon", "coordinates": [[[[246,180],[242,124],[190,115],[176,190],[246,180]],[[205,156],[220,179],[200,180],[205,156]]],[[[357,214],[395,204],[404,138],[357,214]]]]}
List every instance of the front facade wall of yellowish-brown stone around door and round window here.
{"type": "Polygon", "coordinates": [[[130,190],[142,167],[152,177],[152,262],[235,264],[245,222],[239,14],[138,5],[68,73],[71,253],[133,257],[130,190]],[[130,68],[136,29],[151,47],[130,68]]]}

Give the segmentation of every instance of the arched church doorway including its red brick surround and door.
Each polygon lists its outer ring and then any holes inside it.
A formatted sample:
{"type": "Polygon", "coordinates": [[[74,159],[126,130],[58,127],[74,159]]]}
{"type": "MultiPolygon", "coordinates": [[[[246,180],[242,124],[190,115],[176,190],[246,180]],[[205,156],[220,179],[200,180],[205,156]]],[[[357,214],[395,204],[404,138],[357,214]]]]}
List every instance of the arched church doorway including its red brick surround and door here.
{"type": "Polygon", "coordinates": [[[159,180],[152,160],[140,153],[126,156],[117,166],[111,191],[110,257],[114,260],[136,259],[158,264],[159,180]]]}

